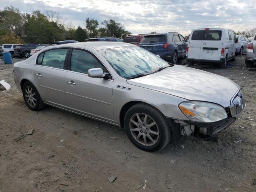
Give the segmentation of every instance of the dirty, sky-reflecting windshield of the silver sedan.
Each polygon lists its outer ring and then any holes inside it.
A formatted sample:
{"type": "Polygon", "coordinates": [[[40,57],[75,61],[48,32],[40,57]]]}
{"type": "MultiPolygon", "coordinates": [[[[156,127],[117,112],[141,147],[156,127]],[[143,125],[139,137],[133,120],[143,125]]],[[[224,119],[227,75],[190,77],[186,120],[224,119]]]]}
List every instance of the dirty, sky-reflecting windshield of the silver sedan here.
{"type": "Polygon", "coordinates": [[[123,78],[131,79],[141,74],[150,74],[168,62],[138,46],[98,50],[114,70],[123,78]]]}

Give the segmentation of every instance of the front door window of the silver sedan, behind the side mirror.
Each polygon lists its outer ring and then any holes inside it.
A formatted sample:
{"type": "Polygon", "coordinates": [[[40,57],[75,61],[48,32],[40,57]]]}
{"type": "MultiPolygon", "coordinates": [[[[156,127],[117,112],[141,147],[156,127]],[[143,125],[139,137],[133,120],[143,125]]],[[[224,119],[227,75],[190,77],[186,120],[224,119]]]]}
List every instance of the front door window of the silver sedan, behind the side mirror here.
{"type": "Polygon", "coordinates": [[[104,70],[100,62],[92,56],[92,54],[86,51],[73,49],[70,70],[87,74],[88,70],[92,68],[102,68],[102,70],[104,70]]]}

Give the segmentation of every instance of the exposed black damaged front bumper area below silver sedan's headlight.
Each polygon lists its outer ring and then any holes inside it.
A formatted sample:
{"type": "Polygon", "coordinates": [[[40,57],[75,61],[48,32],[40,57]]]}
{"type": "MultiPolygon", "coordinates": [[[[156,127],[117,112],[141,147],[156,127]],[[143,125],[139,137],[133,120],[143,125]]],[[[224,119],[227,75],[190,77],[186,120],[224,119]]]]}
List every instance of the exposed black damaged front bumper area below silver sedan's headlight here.
{"type": "Polygon", "coordinates": [[[193,135],[198,138],[208,140],[217,136],[218,132],[228,128],[234,123],[236,118],[228,117],[224,120],[212,123],[192,122],[175,120],[175,123],[180,124],[180,134],[183,136],[193,135]]]}

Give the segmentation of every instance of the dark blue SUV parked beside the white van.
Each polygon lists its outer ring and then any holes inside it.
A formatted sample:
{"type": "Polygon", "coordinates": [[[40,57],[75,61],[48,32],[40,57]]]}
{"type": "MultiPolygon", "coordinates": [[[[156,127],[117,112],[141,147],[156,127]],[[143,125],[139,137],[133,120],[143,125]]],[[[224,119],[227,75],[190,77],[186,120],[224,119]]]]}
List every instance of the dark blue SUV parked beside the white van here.
{"type": "Polygon", "coordinates": [[[186,57],[186,40],[176,32],[145,35],[139,46],[173,64],[186,57]]]}

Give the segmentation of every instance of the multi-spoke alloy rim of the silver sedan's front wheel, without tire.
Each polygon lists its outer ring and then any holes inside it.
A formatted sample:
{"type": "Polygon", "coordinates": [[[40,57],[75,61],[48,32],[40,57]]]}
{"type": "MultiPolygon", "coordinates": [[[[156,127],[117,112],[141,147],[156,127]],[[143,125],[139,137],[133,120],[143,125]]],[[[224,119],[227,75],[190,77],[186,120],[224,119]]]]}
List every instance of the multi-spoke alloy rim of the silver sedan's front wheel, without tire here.
{"type": "Polygon", "coordinates": [[[130,118],[129,128],[134,139],[144,146],[152,146],[158,141],[158,126],[147,114],[134,114],[130,118]]]}

